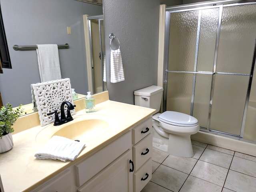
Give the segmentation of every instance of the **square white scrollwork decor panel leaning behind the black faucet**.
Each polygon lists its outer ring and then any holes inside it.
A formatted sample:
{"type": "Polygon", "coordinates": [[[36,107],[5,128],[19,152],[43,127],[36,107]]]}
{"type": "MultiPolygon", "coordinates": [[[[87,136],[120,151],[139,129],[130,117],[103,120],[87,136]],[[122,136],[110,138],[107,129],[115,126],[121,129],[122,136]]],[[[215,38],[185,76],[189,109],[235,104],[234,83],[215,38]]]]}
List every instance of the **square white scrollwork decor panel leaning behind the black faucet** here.
{"type": "MultiPolygon", "coordinates": [[[[36,100],[41,126],[54,122],[54,114],[47,113],[58,111],[60,117],[60,106],[62,102],[68,101],[74,104],[70,79],[60,79],[37,84],[31,84],[32,98],[36,100]],[[34,96],[33,96],[34,95],[34,96]]],[[[65,112],[67,108],[65,107],[65,112]]],[[[75,114],[75,110],[70,111],[75,114]]]]}

